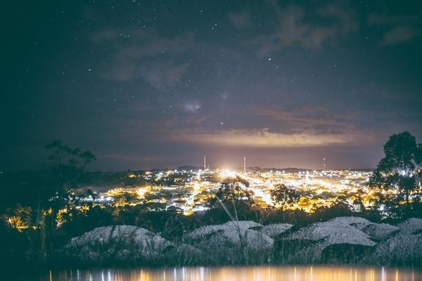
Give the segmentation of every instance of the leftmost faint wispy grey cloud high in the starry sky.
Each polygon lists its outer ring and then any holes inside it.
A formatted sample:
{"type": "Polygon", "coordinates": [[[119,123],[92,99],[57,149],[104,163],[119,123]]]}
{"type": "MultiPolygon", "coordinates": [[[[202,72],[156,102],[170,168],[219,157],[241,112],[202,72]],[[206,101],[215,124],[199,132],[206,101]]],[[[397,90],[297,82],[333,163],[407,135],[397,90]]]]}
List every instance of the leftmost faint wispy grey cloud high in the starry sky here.
{"type": "Polygon", "coordinates": [[[94,44],[110,56],[101,65],[101,77],[115,81],[144,79],[157,89],[174,86],[190,62],[178,60],[197,48],[191,34],[159,37],[145,28],[104,28],[92,35],[94,44]]]}

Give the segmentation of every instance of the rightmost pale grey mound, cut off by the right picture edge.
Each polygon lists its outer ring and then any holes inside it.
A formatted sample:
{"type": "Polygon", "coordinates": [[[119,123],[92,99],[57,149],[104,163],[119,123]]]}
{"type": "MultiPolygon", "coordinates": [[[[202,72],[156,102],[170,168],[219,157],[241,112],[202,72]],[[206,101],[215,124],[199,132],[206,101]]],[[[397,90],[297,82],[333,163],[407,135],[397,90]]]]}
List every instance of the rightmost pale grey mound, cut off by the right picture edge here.
{"type": "Polygon", "coordinates": [[[399,223],[399,232],[390,239],[380,242],[372,259],[383,263],[400,261],[409,265],[422,259],[422,219],[409,218],[399,223]]]}

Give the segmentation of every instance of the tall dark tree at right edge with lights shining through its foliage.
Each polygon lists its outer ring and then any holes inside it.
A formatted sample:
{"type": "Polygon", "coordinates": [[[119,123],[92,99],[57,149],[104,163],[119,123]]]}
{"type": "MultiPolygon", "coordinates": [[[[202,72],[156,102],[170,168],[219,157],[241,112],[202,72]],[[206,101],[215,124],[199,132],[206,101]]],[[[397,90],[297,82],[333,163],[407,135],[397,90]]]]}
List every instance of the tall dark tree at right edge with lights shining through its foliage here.
{"type": "Polygon", "coordinates": [[[381,159],[369,178],[369,185],[395,188],[409,203],[409,195],[421,181],[422,144],[409,132],[390,136],[381,159]]]}

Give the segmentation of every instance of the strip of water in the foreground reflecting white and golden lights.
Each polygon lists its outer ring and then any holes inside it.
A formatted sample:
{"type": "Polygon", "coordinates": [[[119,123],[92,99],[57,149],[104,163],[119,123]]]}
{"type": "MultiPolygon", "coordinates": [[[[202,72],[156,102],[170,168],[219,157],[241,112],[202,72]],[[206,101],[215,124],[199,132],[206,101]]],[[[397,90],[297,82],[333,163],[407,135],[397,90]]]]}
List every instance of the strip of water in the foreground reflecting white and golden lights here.
{"type": "Polygon", "coordinates": [[[50,272],[50,281],[422,281],[422,272],[392,268],[347,267],[195,267],[50,272]]]}

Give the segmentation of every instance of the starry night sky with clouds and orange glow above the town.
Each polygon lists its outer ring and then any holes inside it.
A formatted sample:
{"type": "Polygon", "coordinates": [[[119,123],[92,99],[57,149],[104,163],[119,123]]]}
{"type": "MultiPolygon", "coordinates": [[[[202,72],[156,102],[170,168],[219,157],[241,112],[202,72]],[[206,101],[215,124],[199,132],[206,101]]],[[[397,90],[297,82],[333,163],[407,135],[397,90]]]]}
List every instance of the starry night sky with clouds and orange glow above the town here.
{"type": "MultiPolygon", "coordinates": [[[[0,169],[373,168],[422,141],[422,1],[9,1],[0,169]]],[[[4,4],[5,5],[5,4],[4,4]]]]}

